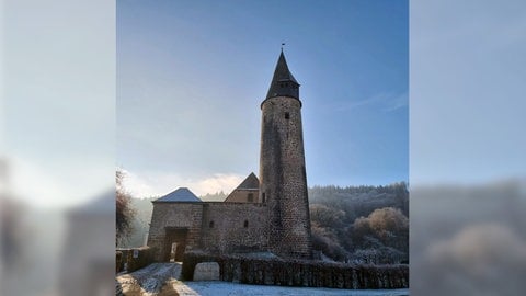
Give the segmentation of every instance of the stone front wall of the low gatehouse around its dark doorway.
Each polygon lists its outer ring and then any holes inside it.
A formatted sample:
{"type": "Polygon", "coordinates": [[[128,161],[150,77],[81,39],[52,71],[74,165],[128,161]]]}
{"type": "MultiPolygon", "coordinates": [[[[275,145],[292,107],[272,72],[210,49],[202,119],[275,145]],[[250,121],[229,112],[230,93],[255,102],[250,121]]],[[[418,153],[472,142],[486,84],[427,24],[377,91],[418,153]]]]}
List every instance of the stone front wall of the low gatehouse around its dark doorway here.
{"type": "Polygon", "coordinates": [[[155,250],[155,260],[163,261],[167,228],[187,229],[186,246],[197,247],[202,219],[203,203],[153,203],[148,247],[155,250]]]}

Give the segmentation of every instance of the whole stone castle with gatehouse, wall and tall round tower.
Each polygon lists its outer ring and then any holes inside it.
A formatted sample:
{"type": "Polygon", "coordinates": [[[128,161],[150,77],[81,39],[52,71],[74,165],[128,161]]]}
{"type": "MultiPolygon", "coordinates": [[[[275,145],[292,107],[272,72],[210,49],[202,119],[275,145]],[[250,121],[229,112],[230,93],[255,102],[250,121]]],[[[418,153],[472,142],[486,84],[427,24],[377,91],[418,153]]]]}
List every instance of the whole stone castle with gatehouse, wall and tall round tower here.
{"type": "Polygon", "coordinates": [[[299,83],[283,50],[261,110],[260,180],[251,173],[225,202],[203,202],[188,189],[153,201],[148,246],[157,261],[196,249],[312,258],[299,83]]]}

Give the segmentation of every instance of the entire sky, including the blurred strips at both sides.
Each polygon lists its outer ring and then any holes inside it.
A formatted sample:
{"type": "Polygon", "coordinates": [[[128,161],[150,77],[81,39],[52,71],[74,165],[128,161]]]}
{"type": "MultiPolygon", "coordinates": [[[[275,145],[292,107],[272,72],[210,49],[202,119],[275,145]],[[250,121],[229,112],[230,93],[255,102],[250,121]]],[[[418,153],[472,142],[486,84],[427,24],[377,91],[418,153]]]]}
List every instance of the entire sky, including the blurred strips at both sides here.
{"type": "MultiPolygon", "coordinates": [[[[302,84],[309,184],[407,174],[407,110],[385,112],[407,102],[403,1],[4,2],[0,145],[32,205],[99,196],[115,162],[145,194],[258,172],[259,104],[282,42],[302,84]]],[[[411,185],[524,180],[525,2],[412,1],[410,14],[411,185]]]]}

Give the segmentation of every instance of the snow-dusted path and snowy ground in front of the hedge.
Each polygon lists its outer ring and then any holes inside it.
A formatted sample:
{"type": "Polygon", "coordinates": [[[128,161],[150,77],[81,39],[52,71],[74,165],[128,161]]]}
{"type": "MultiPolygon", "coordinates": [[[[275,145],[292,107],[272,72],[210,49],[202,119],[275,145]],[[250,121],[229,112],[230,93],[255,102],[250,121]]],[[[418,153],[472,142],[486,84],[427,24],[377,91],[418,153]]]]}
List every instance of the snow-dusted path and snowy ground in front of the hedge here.
{"type": "Polygon", "coordinates": [[[181,282],[179,263],[155,263],[116,277],[117,295],[124,296],[403,296],[409,289],[339,289],[315,287],[258,286],[227,282],[181,282]],[[121,292],[121,293],[119,293],[121,292]]]}

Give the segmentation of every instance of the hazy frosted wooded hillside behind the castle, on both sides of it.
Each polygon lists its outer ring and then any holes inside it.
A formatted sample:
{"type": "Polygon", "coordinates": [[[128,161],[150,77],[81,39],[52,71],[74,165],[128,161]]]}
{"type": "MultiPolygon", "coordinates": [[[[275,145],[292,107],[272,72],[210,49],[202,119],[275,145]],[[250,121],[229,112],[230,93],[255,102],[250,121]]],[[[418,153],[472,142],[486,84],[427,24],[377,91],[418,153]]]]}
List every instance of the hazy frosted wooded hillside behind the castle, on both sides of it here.
{"type": "MultiPolygon", "coordinates": [[[[199,196],[224,201],[220,192],[199,196]]],[[[139,247],[151,220],[151,201],[133,198],[134,231],[119,247],[139,247]]],[[[387,186],[315,186],[309,189],[312,242],[334,261],[400,263],[409,261],[409,192],[405,183],[387,186]]]]}

